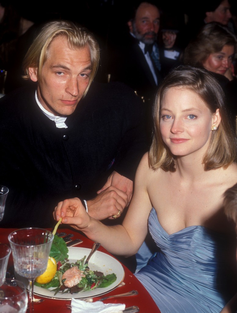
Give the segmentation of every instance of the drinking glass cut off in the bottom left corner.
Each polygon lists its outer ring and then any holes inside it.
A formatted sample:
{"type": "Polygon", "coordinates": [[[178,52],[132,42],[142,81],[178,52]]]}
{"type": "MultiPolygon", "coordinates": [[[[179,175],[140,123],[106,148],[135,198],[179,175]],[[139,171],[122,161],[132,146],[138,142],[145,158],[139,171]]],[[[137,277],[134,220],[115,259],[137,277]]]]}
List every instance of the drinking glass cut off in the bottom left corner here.
{"type": "Polygon", "coordinates": [[[28,296],[21,281],[8,280],[0,287],[0,312],[25,313],[28,296]]]}

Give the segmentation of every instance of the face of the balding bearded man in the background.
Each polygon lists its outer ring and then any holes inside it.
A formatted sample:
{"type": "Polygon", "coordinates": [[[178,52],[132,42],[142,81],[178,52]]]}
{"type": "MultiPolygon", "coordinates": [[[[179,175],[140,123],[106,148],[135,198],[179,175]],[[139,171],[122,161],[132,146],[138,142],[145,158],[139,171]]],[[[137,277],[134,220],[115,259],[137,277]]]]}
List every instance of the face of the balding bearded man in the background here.
{"type": "Polygon", "coordinates": [[[160,13],[157,7],[149,3],[141,3],[137,9],[130,30],[144,44],[153,44],[160,26],[160,13]]]}

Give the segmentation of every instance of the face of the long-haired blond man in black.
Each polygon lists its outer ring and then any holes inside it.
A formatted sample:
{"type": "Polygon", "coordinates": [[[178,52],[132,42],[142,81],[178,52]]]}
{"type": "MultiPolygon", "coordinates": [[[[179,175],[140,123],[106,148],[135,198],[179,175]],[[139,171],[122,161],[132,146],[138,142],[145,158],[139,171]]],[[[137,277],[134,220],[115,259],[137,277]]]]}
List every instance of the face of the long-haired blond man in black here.
{"type": "MultiPolygon", "coordinates": [[[[91,54],[68,47],[67,38],[56,37],[47,51],[37,95],[41,105],[54,115],[70,115],[76,109],[89,84],[91,54]]],[[[37,68],[29,68],[30,78],[37,81],[37,68]]]]}

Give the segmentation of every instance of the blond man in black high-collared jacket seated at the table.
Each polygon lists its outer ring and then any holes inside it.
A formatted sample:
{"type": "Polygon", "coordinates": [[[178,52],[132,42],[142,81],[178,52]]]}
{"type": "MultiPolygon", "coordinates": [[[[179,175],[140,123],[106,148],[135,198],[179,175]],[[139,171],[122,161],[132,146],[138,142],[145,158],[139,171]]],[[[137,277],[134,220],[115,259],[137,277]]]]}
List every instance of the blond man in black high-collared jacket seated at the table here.
{"type": "Polygon", "coordinates": [[[98,62],[93,34],[72,22],[46,24],[29,48],[24,78],[35,85],[0,103],[2,227],[53,227],[53,208],[71,197],[100,220],[128,205],[146,150],[142,107],[125,85],[93,82],[98,62]]]}

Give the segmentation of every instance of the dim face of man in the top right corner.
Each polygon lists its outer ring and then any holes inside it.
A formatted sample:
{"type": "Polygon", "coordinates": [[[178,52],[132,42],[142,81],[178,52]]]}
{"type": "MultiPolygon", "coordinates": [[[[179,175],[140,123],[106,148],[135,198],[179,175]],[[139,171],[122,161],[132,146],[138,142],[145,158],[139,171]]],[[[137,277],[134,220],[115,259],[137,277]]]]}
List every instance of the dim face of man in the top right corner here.
{"type": "Polygon", "coordinates": [[[230,5],[228,0],[224,0],[221,2],[218,8],[213,12],[206,12],[206,22],[218,22],[223,25],[227,25],[229,19],[231,18],[231,13],[229,11],[230,5]]]}

